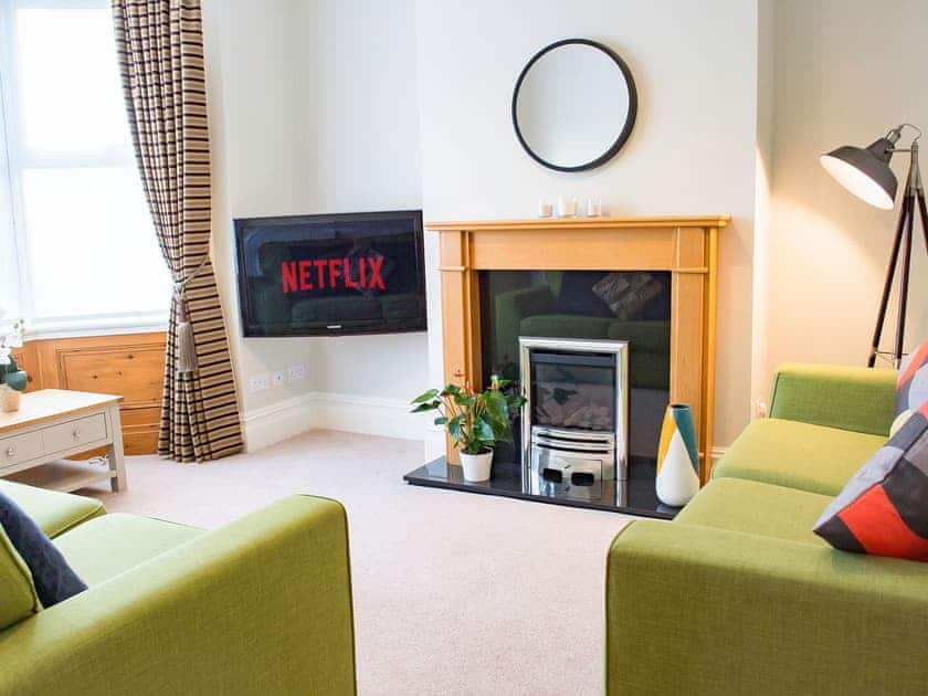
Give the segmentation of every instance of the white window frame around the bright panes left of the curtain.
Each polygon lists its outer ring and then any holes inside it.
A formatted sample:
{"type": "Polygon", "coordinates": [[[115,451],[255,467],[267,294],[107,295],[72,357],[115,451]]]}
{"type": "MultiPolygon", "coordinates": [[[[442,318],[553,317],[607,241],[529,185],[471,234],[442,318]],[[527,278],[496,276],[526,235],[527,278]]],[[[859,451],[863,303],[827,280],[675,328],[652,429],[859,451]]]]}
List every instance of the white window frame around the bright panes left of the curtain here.
{"type": "MultiPolygon", "coordinates": [[[[85,155],[68,158],[66,156],[43,160],[41,157],[29,157],[22,151],[22,133],[17,123],[17,113],[12,107],[17,89],[17,55],[12,41],[12,21],[15,10],[23,8],[35,9],[109,9],[108,0],[0,0],[0,210],[7,199],[10,203],[9,219],[0,220],[0,233],[4,226],[12,231],[12,250],[4,250],[0,245],[0,254],[11,251],[15,257],[15,268],[9,263],[0,265],[0,274],[10,274],[12,283],[0,284],[0,292],[19,289],[19,315],[25,318],[27,338],[56,338],[68,336],[98,336],[115,334],[133,334],[143,331],[164,331],[168,326],[168,309],[162,312],[131,312],[118,314],[92,314],[80,317],[43,317],[34,318],[33,293],[31,284],[31,263],[29,259],[29,240],[23,224],[22,181],[24,169],[42,167],[67,167],[70,164],[107,167],[135,167],[135,155],[129,148],[124,151],[109,151],[98,157],[85,155]],[[4,161],[6,160],[6,161],[4,161]]],[[[8,230],[9,231],[9,230],[8,230]]],[[[8,256],[4,256],[8,257],[8,256]]],[[[169,298],[166,298],[166,305],[169,298]]]]}

